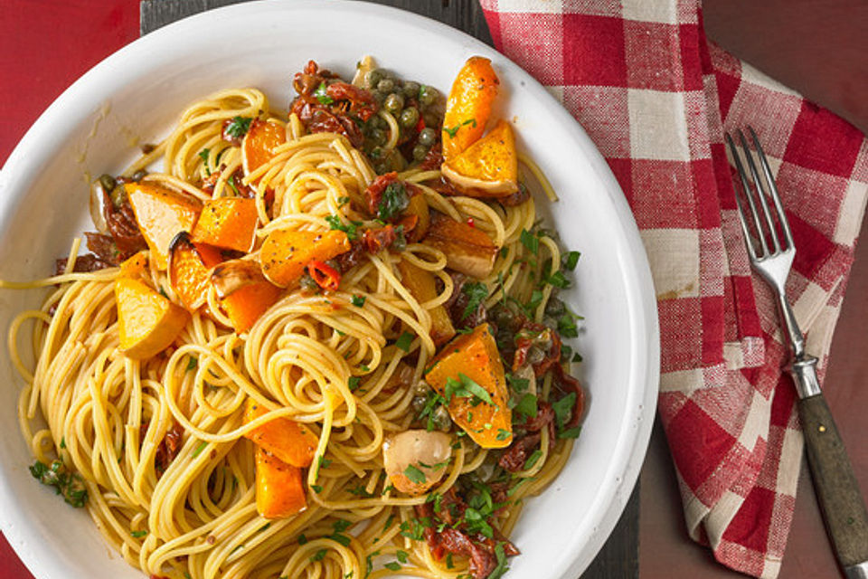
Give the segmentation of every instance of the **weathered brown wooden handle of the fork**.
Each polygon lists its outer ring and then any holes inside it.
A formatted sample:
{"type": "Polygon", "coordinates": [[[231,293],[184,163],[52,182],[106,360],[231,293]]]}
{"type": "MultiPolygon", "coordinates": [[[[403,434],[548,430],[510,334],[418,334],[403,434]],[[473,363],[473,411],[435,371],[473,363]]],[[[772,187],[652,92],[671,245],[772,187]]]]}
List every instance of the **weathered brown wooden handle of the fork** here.
{"type": "Polygon", "coordinates": [[[868,513],[823,394],[800,399],[798,416],[816,498],[838,562],[846,568],[868,561],[868,513]]]}

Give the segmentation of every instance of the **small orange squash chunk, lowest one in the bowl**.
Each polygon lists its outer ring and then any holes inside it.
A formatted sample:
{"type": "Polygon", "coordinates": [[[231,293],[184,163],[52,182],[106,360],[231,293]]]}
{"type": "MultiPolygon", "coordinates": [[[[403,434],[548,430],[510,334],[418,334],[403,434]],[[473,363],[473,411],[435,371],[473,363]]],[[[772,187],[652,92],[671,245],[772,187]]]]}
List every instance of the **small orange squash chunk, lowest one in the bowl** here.
{"type": "Polygon", "coordinates": [[[256,448],[256,510],[262,517],[292,517],[307,508],[301,469],[256,448]]]}

